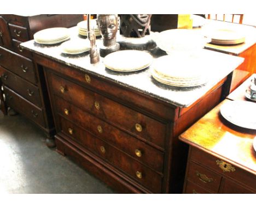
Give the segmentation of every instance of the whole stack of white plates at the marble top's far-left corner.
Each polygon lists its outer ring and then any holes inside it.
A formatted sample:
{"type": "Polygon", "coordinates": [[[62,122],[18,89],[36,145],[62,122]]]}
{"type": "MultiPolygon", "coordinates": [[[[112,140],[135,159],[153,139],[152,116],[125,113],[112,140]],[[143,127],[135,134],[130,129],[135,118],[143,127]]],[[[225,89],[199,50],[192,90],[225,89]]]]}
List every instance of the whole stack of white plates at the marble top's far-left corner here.
{"type": "Polygon", "coordinates": [[[70,38],[68,28],[54,27],[40,30],[34,34],[34,41],[38,44],[58,44],[70,38]]]}

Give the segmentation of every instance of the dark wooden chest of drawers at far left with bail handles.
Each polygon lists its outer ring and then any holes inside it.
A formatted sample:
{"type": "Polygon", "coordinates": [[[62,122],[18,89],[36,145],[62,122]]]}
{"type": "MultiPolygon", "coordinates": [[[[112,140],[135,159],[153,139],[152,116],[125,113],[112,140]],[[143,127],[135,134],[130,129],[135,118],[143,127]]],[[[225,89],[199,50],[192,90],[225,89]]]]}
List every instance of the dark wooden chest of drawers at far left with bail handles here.
{"type": "Polygon", "coordinates": [[[54,145],[55,128],[44,75],[34,65],[32,53],[20,44],[39,30],[72,27],[82,20],[82,15],[0,15],[1,109],[7,113],[11,107],[31,119],[45,132],[48,146],[54,145]]]}

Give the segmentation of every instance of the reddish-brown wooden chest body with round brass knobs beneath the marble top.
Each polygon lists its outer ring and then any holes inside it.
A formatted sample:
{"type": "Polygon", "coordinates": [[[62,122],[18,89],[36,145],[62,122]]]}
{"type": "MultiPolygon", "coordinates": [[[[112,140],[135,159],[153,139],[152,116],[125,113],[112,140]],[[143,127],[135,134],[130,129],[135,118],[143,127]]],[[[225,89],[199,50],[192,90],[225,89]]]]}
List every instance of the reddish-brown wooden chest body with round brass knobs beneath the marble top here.
{"type": "Polygon", "coordinates": [[[188,146],[178,136],[219,103],[226,78],[190,107],[179,108],[33,56],[45,74],[57,151],[122,193],[182,192],[188,146]]]}

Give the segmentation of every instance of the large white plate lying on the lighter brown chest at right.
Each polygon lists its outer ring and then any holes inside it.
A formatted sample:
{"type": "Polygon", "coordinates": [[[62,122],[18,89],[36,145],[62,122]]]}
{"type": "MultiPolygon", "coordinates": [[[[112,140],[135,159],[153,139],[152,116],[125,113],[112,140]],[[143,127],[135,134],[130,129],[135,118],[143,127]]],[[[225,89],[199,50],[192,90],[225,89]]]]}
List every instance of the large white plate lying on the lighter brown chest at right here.
{"type": "Polygon", "coordinates": [[[230,123],[256,130],[256,103],[248,101],[230,101],[220,107],[220,113],[230,123]]]}

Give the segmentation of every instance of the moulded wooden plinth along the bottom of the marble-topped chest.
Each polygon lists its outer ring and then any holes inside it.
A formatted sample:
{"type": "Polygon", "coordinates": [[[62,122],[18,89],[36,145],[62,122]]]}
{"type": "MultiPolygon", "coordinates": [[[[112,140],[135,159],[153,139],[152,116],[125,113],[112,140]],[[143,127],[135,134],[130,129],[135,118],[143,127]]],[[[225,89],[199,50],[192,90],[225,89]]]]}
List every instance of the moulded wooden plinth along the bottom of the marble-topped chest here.
{"type": "Polygon", "coordinates": [[[81,147],[78,149],[63,138],[65,138],[65,135],[61,133],[55,136],[56,150],[62,155],[70,156],[80,166],[86,168],[86,170],[104,181],[110,187],[113,187],[120,193],[153,193],[139,186],[138,183],[132,181],[129,177],[119,172],[119,170],[113,169],[113,167],[109,166],[109,164],[101,160],[101,158],[92,155],[85,149],[82,151],[80,149],[81,147]]]}

